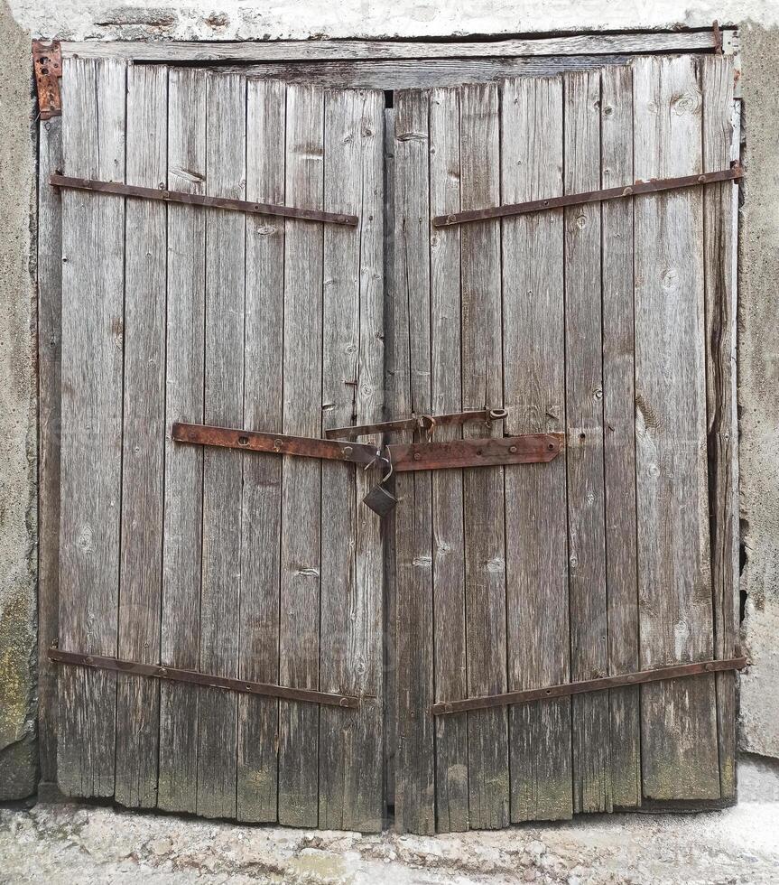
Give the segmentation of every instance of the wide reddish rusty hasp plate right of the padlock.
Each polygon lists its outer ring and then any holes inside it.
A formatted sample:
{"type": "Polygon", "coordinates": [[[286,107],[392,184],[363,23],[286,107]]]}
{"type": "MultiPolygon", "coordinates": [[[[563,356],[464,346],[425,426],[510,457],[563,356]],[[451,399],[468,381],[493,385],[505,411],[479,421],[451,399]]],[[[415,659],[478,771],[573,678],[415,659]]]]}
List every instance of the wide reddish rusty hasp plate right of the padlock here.
{"type": "Polygon", "coordinates": [[[563,433],[525,433],[483,440],[413,442],[388,445],[393,470],[445,470],[494,467],[500,464],[540,464],[553,461],[565,444],[563,433]]]}

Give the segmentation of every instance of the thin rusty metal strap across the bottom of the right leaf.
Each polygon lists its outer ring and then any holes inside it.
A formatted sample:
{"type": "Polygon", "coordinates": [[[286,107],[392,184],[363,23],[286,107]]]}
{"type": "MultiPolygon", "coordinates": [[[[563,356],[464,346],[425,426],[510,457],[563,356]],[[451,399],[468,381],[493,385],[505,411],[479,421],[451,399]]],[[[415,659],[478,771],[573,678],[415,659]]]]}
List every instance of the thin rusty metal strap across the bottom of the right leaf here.
{"type": "Polygon", "coordinates": [[[530,688],[521,692],[489,694],[485,697],[468,697],[462,701],[441,701],[434,703],[431,710],[435,716],[446,715],[447,713],[464,713],[467,710],[486,710],[489,707],[503,707],[510,703],[530,703],[531,701],[545,701],[555,697],[566,697],[569,694],[602,692],[608,688],[620,688],[623,685],[643,685],[647,682],[681,679],[685,676],[700,675],[701,673],[742,670],[748,663],[747,658],[742,656],[731,657],[725,660],[696,661],[693,664],[660,666],[654,670],[640,670],[637,673],[625,673],[617,676],[601,676],[599,679],[550,685],[547,688],[530,688]]]}

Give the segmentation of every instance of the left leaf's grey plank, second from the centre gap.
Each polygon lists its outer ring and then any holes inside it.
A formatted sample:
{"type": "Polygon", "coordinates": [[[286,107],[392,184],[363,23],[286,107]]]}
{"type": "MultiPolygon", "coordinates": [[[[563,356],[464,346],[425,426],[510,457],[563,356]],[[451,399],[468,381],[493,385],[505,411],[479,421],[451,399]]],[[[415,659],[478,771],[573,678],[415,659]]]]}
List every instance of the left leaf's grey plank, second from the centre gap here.
{"type": "MultiPolygon", "coordinates": [[[[323,202],[321,89],[287,88],[286,199],[323,202]]],[[[320,224],[287,219],[284,238],[283,432],[321,434],[322,237],[320,224]]],[[[321,464],[285,458],[282,486],[281,684],[315,689],[320,666],[321,464]]],[[[318,823],[319,710],[282,701],[279,821],[318,823]]]]}

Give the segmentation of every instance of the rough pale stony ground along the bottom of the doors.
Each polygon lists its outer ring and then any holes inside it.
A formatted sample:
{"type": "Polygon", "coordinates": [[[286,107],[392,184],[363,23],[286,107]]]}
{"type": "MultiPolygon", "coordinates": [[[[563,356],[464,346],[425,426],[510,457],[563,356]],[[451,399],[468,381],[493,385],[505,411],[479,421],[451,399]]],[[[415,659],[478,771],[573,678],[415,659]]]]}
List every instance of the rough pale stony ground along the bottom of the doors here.
{"type": "Polygon", "coordinates": [[[105,807],[0,809],[0,881],[122,885],[775,885],[779,770],[742,762],[741,805],[425,837],[236,826],[105,807]],[[750,792],[756,784],[758,792],[750,792]]]}

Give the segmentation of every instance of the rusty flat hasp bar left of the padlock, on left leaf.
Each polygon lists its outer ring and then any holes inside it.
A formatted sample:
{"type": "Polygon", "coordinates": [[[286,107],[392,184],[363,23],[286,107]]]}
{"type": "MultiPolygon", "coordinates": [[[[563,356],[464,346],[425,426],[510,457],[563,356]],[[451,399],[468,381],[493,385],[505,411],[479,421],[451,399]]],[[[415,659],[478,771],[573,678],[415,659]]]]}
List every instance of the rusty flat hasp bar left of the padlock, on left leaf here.
{"type": "Polygon", "coordinates": [[[264,433],[231,427],[212,427],[209,424],[176,422],[171,431],[176,442],[194,445],[216,445],[227,449],[250,452],[270,452],[276,455],[298,455],[302,458],[324,458],[327,461],[352,461],[370,464],[376,461],[376,446],[364,442],[337,442],[308,436],[286,436],[283,433],[264,433]]]}

